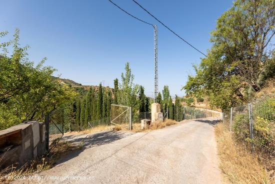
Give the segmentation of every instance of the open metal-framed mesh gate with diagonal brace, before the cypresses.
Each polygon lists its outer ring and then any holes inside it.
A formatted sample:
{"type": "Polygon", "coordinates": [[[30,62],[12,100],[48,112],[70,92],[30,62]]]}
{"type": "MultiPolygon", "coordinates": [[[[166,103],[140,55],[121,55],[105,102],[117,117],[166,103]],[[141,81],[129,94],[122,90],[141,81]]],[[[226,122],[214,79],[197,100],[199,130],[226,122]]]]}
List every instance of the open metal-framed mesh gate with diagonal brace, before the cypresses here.
{"type": "Polygon", "coordinates": [[[131,107],[111,104],[110,123],[131,130],[131,107]]]}

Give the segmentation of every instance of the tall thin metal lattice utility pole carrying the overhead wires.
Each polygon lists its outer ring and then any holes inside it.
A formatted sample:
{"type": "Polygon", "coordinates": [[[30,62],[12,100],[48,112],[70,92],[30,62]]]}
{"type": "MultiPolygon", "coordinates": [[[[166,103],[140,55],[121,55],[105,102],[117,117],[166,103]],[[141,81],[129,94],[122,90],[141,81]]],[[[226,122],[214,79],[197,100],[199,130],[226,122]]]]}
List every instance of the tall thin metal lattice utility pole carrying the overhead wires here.
{"type": "Polygon", "coordinates": [[[156,25],[153,25],[153,47],[154,47],[154,103],[158,93],[158,76],[157,76],[157,31],[156,25]]]}

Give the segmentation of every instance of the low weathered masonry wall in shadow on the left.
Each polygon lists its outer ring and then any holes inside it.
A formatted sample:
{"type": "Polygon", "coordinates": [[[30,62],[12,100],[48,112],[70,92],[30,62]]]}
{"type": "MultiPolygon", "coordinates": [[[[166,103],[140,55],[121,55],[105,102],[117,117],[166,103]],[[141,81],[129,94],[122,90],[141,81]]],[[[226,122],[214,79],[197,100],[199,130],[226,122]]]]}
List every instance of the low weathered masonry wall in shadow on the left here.
{"type": "Polygon", "coordinates": [[[20,167],[46,151],[45,125],[29,121],[0,131],[0,168],[20,167]]]}

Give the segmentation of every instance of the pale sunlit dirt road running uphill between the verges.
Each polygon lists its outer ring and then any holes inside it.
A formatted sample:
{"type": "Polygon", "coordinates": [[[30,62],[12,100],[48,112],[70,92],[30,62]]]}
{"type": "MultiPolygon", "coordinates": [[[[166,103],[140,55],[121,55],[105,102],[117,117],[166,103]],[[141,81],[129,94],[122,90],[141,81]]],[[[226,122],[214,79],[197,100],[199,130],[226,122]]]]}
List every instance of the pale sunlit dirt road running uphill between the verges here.
{"type": "Polygon", "coordinates": [[[30,183],[220,183],[215,121],[64,137],[83,144],[30,183]]]}

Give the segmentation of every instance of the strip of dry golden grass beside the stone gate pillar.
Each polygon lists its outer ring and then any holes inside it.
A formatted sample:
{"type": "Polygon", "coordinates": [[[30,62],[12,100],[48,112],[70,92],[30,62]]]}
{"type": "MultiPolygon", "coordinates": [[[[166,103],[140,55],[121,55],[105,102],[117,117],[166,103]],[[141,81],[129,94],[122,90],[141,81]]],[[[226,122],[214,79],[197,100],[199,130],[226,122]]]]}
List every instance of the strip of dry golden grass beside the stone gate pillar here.
{"type": "Polygon", "coordinates": [[[164,128],[165,126],[170,126],[173,124],[176,124],[177,122],[175,120],[171,120],[171,119],[165,119],[164,121],[156,121],[154,122],[152,125],[148,126],[148,128],[146,129],[141,129],[141,124],[140,123],[134,123],[132,125],[132,131],[134,132],[141,132],[141,131],[152,131],[155,129],[160,129],[160,128],[164,128]]]}

